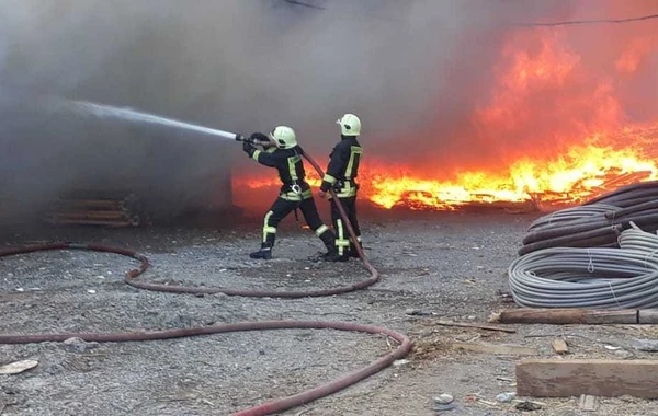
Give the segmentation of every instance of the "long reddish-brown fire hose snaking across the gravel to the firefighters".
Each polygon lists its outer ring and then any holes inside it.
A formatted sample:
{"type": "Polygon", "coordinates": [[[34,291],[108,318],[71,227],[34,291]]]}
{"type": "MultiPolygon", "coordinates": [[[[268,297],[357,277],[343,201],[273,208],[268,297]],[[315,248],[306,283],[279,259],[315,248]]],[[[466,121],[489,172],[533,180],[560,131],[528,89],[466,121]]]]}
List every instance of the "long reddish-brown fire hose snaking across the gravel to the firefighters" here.
{"type": "MultiPolygon", "coordinates": [[[[237,135],[236,137],[239,137],[237,135]]],[[[310,155],[306,152],[303,152],[304,158],[308,160],[308,162],[314,166],[320,177],[324,176],[324,173],[319,165],[310,158],[310,155]]],[[[91,250],[97,252],[105,252],[105,253],[115,253],[124,256],[132,257],[138,262],[140,265],[138,268],[132,269],[125,274],[124,281],[135,288],[154,290],[154,291],[164,291],[164,292],[175,292],[175,293],[225,293],[228,296],[241,296],[241,297],[271,297],[271,298],[304,298],[304,297],[322,297],[322,296],[332,296],[339,293],[347,293],[350,291],[355,291],[360,289],[364,289],[368,286],[374,285],[379,279],[378,271],[372,266],[368,262],[365,253],[361,249],[361,245],[356,243],[356,235],[354,230],[351,227],[351,223],[347,217],[344,208],[342,207],[340,199],[337,197],[333,189],[329,190],[332,198],[334,199],[334,204],[337,205],[340,216],[343,219],[343,223],[347,226],[348,232],[354,243],[354,247],[359,254],[359,257],[363,262],[366,269],[371,273],[371,277],[366,280],[338,287],[333,289],[325,289],[325,290],[307,290],[307,291],[249,291],[249,290],[239,290],[239,289],[222,289],[222,288],[197,288],[197,287],[185,287],[185,286],[169,286],[161,284],[152,284],[137,280],[136,278],[144,274],[146,269],[149,267],[148,258],[141,254],[138,254],[132,250],[114,247],[101,244],[79,244],[79,243],[52,243],[52,244],[39,244],[39,245],[30,245],[23,247],[14,247],[0,251],[0,257],[9,256],[13,254],[22,254],[22,253],[32,253],[37,251],[49,251],[49,250],[91,250]]],[[[395,360],[400,359],[411,350],[412,344],[411,340],[397,332],[392,330],[374,326],[374,325],[363,325],[355,324],[350,322],[324,322],[324,321],[263,321],[263,322],[245,322],[245,323],[236,323],[236,324],[226,324],[226,325],[214,325],[214,326],[198,326],[191,328],[177,328],[177,330],[166,330],[166,331],[154,331],[154,332],[126,332],[126,333],[65,333],[65,334],[31,334],[31,335],[0,335],[0,344],[31,344],[31,343],[43,343],[43,342],[63,342],[71,337],[78,337],[87,342],[129,342],[129,340],[152,340],[152,339],[168,339],[168,338],[178,338],[178,337],[188,337],[188,336],[196,336],[196,335],[209,335],[209,334],[219,334],[219,333],[228,333],[228,332],[239,332],[239,331],[263,331],[263,330],[292,330],[292,328],[331,328],[338,331],[352,331],[352,332],[364,332],[370,334],[383,334],[388,337],[392,337],[397,343],[399,343],[399,347],[383,356],[378,360],[372,362],[367,367],[364,367],[358,371],[343,375],[337,380],[333,380],[329,383],[322,384],[311,390],[307,390],[305,392],[294,394],[291,396],[277,398],[271,402],[266,402],[245,411],[240,411],[235,413],[235,416],[257,416],[257,415],[268,415],[277,412],[283,412],[292,407],[296,407],[309,402],[313,402],[317,398],[325,397],[332,393],[336,393],[340,390],[343,390],[350,385],[355,384],[356,382],[364,380],[365,378],[379,372],[386,367],[390,366],[395,360]]]]}

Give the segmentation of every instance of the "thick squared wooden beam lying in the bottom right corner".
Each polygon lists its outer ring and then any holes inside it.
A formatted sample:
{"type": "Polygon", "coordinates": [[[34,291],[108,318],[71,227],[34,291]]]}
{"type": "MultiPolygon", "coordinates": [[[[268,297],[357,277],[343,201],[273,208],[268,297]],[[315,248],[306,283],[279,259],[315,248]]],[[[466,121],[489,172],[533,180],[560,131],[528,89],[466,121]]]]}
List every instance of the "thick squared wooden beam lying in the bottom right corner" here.
{"type": "Polygon", "coordinates": [[[517,393],[533,397],[580,394],[658,398],[658,360],[525,359],[517,363],[517,393]]]}

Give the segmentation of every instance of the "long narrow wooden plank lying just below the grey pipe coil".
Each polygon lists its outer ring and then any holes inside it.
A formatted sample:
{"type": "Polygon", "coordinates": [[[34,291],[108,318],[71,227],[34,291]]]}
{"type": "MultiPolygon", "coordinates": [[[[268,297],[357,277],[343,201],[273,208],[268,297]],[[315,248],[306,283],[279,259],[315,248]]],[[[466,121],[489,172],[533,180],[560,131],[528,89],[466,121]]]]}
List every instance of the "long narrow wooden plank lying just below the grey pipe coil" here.
{"type": "Polygon", "coordinates": [[[592,309],[509,309],[495,313],[489,322],[503,324],[637,324],[638,311],[592,309]]]}

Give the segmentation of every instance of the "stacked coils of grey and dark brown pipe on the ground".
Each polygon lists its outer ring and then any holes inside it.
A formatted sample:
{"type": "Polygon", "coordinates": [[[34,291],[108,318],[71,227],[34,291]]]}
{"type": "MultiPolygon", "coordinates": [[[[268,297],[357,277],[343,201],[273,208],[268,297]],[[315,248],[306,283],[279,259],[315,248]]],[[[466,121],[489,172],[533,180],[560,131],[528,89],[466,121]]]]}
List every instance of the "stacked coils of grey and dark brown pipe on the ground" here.
{"type": "Polygon", "coordinates": [[[658,308],[658,182],[535,220],[508,269],[526,308],[658,308]]]}

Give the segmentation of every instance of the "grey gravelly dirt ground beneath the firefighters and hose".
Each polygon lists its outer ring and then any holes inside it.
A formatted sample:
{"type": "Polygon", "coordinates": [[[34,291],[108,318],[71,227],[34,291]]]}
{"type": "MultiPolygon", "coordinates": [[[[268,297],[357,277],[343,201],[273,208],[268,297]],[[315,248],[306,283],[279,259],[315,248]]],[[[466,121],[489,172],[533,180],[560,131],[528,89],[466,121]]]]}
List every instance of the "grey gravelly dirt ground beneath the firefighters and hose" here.
{"type": "MultiPolygon", "coordinates": [[[[364,244],[382,280],[328,298],[282,300],[170,294],[122,281],[135,262],[113,254],[60,251],[0,259],[0,333],[115,332],[262,320],[326,320],[376,324],[416,344],[407,360],[285,415],[586,415],[578,397],[533,398],[521,412],[496,396],[514,392],[518,355],[457,351],[455,342],[536,347],[565,358],[649,358],[634,337],[654,327],[514,325],[515,333],[440,326],[438,320],[486,323],[500,309],[507,267],[536,215],[362,215],[364,244]],[[501,294],[502,293],[502,294],[501,294]],[[427,315],[411,315],[411,309],[427,315]],[[434,397],[449,393],[450,406],[434,397]]],[[[43,241],[97,242],[149,257],[149,281],[230,288],[328,288],[367,277],[356,261],[314,263],[320,241],[288,219],[275,259],[257,262],[260,219],[225,219],[216,228],[5,230],[7,245],[43,241]]],[[[226,415],[294,394],[359,369],[395,348],[382,336],[338,331],[270,331],[140,343],[43,343],[0,346],[0,365],[38,360],[32,370],[0,375],[2,415],[226,415]]],[[[521,397],[526,398],[526,397],[521,397]]],[[[658,415],[651,401],[603,398],[600,415],[658,415]]]]}

